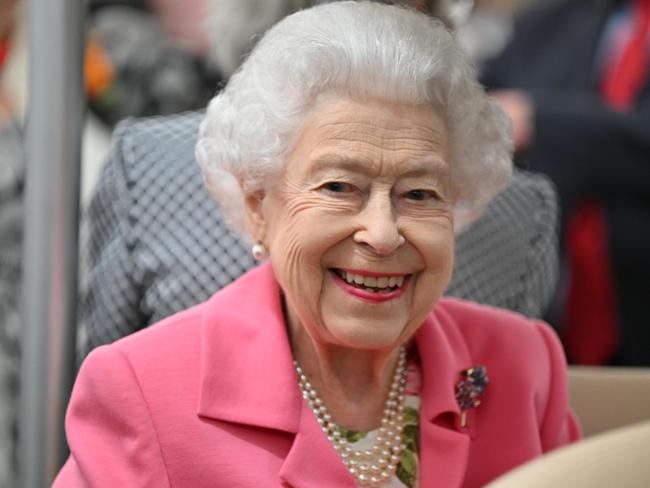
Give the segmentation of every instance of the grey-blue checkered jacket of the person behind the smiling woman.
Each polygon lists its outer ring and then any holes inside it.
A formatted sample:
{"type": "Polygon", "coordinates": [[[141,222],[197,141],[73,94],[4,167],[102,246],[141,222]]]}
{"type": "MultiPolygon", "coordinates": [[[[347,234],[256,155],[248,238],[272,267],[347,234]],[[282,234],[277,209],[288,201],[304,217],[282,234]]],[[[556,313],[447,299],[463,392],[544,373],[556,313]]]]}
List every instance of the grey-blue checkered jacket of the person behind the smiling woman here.
{"type": "MultiPolygon", "coordinates": [[[[123,122],[87,215],[82,354],[207,299],[254,266],[194,159],[202,114],[123,122]]],[[[518,172],[457,239],[448,294],[539,317],[557,277],[557,202],[518,172]]]]}

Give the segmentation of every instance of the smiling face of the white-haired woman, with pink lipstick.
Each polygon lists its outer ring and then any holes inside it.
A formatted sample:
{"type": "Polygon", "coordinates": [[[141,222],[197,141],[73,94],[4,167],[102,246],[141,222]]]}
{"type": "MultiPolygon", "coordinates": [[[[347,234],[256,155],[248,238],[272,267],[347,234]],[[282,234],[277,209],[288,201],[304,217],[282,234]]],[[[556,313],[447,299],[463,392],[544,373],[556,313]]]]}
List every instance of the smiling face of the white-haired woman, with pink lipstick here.
{"type": "Polygon", "coordinates": [[[339,100],[308,117],[279,179],[248,198],[292,328],[358,349],[413,334],[451,274],[448,161],[429,107],[339,100]]]}

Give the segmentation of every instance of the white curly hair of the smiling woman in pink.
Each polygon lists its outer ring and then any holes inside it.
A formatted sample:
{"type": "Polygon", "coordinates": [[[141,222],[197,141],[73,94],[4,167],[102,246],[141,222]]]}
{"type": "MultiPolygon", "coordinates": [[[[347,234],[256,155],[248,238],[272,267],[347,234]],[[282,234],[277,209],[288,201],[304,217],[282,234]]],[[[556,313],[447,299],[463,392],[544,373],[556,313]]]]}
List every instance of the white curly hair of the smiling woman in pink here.
{"type": "Polygon", "coordinates": [[[457,229],[509,181],[509,119],[442,22],[375,2],[327,3],[272,27],[201,123],[197,161],[224,217],[244,237],[245,195],[281,171],[322,95],[431,106],[449,133],[457,229]]]}

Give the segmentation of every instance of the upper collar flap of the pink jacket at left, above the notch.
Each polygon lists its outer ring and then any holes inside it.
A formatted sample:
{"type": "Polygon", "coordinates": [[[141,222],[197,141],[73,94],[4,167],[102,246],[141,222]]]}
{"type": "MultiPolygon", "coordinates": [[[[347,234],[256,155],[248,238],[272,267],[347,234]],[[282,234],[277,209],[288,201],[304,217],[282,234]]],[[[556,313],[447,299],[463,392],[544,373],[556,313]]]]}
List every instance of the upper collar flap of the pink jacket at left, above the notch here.
{"type": "Polygon", "coordinates": [[[201,333],[198,414],[298,432],[302,397],[268,263],[210,299],[201,333]]]}

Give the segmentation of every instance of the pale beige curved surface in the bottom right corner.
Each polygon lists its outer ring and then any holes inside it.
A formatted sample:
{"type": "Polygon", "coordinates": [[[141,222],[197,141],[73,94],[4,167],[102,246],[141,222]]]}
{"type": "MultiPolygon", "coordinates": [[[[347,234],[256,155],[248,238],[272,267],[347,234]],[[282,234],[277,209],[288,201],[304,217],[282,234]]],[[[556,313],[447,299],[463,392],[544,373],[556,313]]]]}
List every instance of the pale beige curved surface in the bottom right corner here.
{"type": "Polygon", "coordinates": [[[650,421],[552,451],[486,488],[648,488],[650,421]]]}

